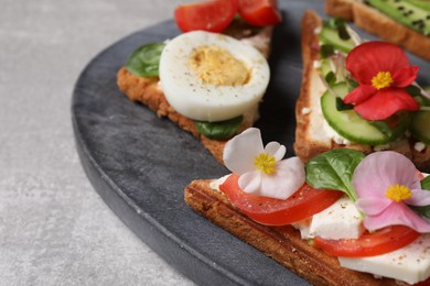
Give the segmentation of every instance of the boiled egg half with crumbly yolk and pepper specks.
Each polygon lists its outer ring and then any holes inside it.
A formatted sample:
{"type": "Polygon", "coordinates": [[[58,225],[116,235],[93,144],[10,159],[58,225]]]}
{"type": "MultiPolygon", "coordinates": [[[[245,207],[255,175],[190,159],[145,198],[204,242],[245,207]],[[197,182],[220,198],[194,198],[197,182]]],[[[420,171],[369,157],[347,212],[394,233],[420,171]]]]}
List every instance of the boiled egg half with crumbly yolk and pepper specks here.
{"type": "Polygon", "coordinates": [[[179,113],[208,122],[255,109],[270,78],[269,65],[255,47],[203,31],[169,41],[159,74],[164,96],[179,113]]]}

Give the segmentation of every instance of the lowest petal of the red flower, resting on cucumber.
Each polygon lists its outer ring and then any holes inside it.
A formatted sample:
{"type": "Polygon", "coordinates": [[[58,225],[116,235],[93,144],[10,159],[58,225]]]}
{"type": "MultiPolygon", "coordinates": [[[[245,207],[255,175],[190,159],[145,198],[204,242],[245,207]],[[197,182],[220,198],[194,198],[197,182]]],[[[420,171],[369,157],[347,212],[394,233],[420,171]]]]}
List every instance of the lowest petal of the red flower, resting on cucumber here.
{"type": "Polygon", "coordinates": [[[404,89],[386,88],[370,99],[356,105],[354,110],[366,120],[385,120],[400,110],[419,110],[418,102],[404,89]]]}

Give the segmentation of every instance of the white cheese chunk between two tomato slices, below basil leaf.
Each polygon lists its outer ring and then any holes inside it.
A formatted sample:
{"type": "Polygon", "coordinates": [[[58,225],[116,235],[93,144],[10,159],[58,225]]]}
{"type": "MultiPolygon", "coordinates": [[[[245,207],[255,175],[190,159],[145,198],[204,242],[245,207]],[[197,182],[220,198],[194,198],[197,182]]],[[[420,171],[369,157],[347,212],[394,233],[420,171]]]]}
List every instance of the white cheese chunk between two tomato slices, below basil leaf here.
{"type": "Polygon", "coordinates": [[[346,196],[314,215],[309,227],[309,238],[357,239],[363,232],[362,215],[346,196]]]}

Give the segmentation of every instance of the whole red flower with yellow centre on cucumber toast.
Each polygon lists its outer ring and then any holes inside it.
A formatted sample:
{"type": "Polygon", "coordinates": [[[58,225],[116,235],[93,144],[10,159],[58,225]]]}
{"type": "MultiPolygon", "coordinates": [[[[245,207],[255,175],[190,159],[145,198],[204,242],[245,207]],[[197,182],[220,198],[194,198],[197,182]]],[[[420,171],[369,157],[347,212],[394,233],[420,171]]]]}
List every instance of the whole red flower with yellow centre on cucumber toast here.
{"type": "Polygon", "coordinates": [[[346,69],[358,82],[344,98],[366,120],[385,120],[400,110],[419,110],[418,102],[405,90],[418,74],[404,51],[390,43],[367,42],[353,48],[346,69]]]}

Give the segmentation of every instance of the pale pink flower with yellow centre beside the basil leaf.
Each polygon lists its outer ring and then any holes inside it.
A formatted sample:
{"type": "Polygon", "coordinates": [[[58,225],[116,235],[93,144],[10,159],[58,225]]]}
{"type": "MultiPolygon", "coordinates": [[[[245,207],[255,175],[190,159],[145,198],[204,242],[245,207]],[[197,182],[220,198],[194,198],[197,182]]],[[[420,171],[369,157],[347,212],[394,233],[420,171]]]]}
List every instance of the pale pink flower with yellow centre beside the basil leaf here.
{"type": "Polygon", "coordinates": [[[384,151],[366,156],[354,172],[353,186],[366,229],[401,224],[430,232],[430,220],[409,207],[430,205],[430,191],[421,189],[420,175],[405,155],[384,151]]]}

